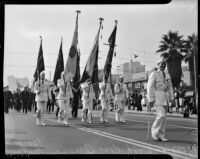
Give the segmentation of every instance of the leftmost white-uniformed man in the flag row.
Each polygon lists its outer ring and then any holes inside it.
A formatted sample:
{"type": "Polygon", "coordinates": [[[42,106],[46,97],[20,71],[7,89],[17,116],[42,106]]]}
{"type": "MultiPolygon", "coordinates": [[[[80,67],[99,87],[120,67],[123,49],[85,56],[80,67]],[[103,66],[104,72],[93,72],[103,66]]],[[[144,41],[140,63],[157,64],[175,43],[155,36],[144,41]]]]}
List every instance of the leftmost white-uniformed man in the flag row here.
{"type": "Polygon", "coordinates": [[[36,81],[34,84],[34,92],[36,93],[35,101],[37,102],[37,125],[45,125],[44,123],[44,113],[47,106],[48,98],[52,102],[51,92],[48,82],[45,80],[45,73],[40,73],[40,80],[36,81]]]}

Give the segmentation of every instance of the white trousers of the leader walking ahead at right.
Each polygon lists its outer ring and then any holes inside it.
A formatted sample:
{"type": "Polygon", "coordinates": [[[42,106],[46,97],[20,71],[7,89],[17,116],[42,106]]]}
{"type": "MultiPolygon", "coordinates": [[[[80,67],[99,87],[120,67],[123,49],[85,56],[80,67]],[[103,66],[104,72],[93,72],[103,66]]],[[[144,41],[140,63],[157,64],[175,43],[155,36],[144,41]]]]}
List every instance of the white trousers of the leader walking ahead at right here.
{"type": "Polygon", "coordinates": [[[165,138],[165,123],[167,117],[167,106],[155,106],[156,119],[151,127],[152,135],[165,138]]]}

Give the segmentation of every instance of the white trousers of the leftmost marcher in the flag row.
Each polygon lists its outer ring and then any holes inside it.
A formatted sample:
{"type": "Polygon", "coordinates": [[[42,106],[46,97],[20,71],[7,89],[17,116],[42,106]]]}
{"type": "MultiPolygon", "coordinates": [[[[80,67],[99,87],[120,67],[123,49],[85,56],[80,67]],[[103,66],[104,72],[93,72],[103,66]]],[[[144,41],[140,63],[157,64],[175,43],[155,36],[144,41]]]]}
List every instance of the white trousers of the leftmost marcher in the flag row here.
{"type": "Polygon", "coordinates": [[[46,110],[47,101],[37,101],[37,120],[44,122],[44,113],[46,110]]]}

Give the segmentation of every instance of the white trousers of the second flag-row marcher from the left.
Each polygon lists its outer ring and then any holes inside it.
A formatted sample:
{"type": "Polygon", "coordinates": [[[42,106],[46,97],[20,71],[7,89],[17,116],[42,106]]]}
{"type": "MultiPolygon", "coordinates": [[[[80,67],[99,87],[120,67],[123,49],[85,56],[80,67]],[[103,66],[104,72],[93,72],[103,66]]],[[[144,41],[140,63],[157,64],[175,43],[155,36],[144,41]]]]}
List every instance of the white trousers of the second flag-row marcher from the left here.
{"type": "Polygon", "coordinates": [[[70,99],[59,99],[58,100],[59,105],[59,112],[58,112],[58,120],[62,121],[68,121],[68,114],[69,114],[69,105],[70,105],[70,99]]]}

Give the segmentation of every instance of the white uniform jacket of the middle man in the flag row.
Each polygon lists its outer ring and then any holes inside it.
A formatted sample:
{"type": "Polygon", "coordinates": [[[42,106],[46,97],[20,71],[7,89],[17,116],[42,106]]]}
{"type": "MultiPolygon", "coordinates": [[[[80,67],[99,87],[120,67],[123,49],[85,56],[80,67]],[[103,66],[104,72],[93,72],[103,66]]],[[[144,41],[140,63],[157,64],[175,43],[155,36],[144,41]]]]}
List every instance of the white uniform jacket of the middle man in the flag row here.
{"type": "Polygon", "coordinates": [[[81,88],[83,90],[83,94],[82,94],[82,98],[81,98],[82,100],[96,99],[92,84],[90,84],[90,86],[89,86],[87,82],[82,83],[81,88]]]}

